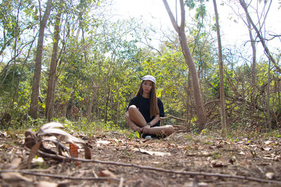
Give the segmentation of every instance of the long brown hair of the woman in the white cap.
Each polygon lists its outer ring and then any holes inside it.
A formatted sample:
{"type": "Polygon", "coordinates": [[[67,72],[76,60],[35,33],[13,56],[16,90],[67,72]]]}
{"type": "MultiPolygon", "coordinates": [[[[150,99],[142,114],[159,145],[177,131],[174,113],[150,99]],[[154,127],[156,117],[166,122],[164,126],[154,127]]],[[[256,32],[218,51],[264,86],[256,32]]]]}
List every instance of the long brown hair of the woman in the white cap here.
{"type": "MultiPolygon", "coordinates": [[[[140,87],[138,88],[138,92],[136,96],[143,95],[143,82],[141,83],[140,87]]],[[[157,105],[157,96],[156,96],[156,89],[155,83],[152,82],[152,89],[150,90],[150,118],[159,114],[159,108],[157,105]]]]}

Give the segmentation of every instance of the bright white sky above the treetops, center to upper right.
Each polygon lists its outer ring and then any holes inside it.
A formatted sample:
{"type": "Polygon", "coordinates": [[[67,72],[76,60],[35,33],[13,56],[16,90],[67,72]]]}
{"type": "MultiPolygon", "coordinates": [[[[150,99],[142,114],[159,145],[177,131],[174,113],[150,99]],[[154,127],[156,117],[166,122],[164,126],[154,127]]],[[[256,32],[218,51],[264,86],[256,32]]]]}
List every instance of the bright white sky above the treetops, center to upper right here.
{"type": "MultiPolygon", "coordinates": [[[[257,1],[257,0],[256,0],[257,1]]],[[[175,12],[175,0],[168,0],[171,11],[175,12]]],[[[222,45],[241,45],[241,39],[249,39],[249,34],[247,27],[244,23],[239,24],[233,22],[233,20],[228,20],[230,15],[237,17],[231,8],[228,6],[221,6],[217,1],[218,13],[220,16],[221,34],[222,34],[222,45]]],[[[117,15],[122,18],[139,18],[147,22],[152,22],[155,27],[166,28],[174,30],[171,25],[171,20],[169,19],[168,13],[164,7],[162,0],[113,0],[113,4],[116,4],[117,15]]],[[[273,0],[273,4],[270,7],[270,12],[268,13],[266,28],[275,32],[275,34],[281,34],[281,10],[278,10],[280,4],[277,0],[273,0]]],[[[180,11],[178,2],[178,12],[180,11]]],[[[213,1],[209,0],[209,6],[207,6],[207,11],[211,16],[214,15],[214,5],[213,1]]],[[[240,8],[240,13],[244,13],[242,7],[240,8]]],[[[188,15],[188,8],[185,8],[185,15],[188,15]]],[[[216,34],[216,33],[214,33],[216,34]]],[[[275,39],[275,41],[270,41],[273,43],[275,48],[279,48],[280,40],[275,39]]]]}

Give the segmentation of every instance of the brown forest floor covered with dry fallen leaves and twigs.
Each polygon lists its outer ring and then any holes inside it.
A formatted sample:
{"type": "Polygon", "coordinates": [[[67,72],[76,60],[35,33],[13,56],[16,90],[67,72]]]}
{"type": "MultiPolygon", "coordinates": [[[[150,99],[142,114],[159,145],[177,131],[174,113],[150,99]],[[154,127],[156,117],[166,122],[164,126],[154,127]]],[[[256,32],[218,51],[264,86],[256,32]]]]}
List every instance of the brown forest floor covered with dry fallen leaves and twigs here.
{"type": "Polygon", "coordinates": [[[281,186],[280,137],[233,140],[208,134],[175,132],[165,139],[129,139],[113,131],[77,135],[86,139],[90,160],[81,147],[76,160],[40,155],[28,162],[25,134],[1,132],[0,186],[281,186]]]}

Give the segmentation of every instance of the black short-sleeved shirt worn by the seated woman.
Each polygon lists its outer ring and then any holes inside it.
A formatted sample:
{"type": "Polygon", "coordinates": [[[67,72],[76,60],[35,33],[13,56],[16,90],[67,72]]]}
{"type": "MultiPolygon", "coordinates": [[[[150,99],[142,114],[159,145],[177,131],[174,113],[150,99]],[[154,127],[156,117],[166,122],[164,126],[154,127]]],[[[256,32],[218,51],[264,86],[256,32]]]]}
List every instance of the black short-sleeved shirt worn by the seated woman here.
{"type": "MultiPolygon", "coordinates": [[[[133,97],[129,102],[129,106],[131,105],[136,105],[136,107],[141,112],[147,123],[153,120],[153,118],[155,118],[155,116],[152,116],[152,118],[150,118],[150,98],[145,98],[141,95],[133,97]]],[[[158,97],[157,97],[157,105],[159,108],[159,116],[164,117],[165,113],[164,113],[163,103],[161,99],[159,99],[158,97]]],[[[129,110],[129,106],[127,107],[126,111],[129,110]]],[[[160,120],[155,125],[159,125],[159,124],[160,124],[160,120]]]]}

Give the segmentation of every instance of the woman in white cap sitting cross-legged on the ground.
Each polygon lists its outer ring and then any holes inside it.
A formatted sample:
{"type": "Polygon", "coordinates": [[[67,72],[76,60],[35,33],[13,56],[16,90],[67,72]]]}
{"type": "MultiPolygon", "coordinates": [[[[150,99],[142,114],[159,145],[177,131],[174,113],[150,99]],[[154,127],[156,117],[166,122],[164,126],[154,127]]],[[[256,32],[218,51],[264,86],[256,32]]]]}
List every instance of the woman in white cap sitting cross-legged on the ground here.
{"type": "Polygon", "coordinates": [[[144,138],[167,137],[174,132],[172,125],[160,126],[160,117],[164,117],[162,101],[156,96],[156,80],[153,76],[144,76],[136,97],[133,97],[126,109],[125,118],[131,129],[143,134],[144,138]]]}

